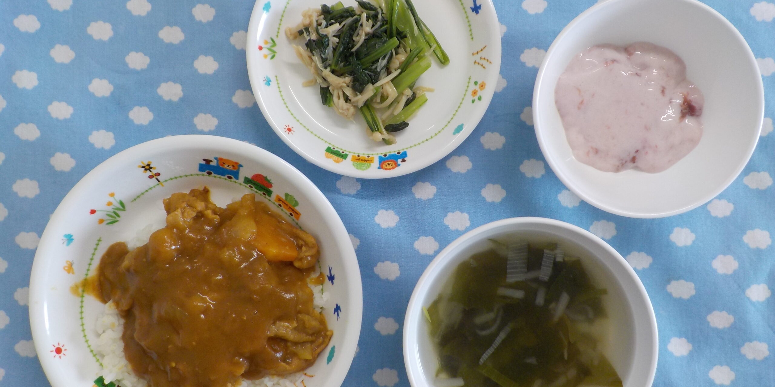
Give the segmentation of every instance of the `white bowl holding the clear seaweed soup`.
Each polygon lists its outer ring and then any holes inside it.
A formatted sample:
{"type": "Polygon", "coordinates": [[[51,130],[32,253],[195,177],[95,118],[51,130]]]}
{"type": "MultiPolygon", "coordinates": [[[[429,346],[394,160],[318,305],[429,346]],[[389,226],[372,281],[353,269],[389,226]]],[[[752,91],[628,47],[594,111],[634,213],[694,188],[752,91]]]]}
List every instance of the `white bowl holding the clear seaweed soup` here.
{"type": "Polygon", "coordinates": [[[404,320],[404,362],[412,387],[432,387],[439,364],[422,307],[436,300],[460,262],[492,248],[488,238],[553,241],[570,255],[579,256],[593,281],[608,289],[611,336],[604,353],[625,387],[651,385],[659,353],[656,318],[646,289],[622,255],[601,238],[573,224],[543,217],[512,217],[468,231],[439,252],[422,273],[404,320]]]}

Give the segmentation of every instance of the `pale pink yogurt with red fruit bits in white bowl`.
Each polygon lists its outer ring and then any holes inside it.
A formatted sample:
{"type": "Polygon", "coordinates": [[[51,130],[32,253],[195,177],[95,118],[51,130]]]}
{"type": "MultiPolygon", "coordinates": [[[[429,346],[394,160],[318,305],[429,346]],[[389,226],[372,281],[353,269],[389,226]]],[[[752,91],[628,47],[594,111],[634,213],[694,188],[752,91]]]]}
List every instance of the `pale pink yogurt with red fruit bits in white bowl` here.
{"type": "Polygon", "coordinates": [[[667,170],[702,137],[702,93],[684,61],[652,43],[578,53],[554,98],[576,159],[605,172],[667,170]]]}

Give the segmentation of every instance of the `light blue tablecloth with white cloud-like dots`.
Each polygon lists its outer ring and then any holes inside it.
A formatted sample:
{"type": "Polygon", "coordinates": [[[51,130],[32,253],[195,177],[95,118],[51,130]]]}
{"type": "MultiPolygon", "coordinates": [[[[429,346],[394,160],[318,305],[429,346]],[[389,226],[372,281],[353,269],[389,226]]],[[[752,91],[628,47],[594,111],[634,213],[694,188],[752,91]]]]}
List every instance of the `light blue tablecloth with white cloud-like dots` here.
{"type": "MultiPolygon", "coordinates": [[[[115,152],[202,132],[288,160],[350,230],[364,305],[345,386],[408,386],[401,328],[422,270],[463,232],[525,215],[587,228],[636,269],[660,327],[654,385],[775,385],[770,118],[729,189],[665,219],[617,217],[580,202],[543,161],[530,114],[536,66],[595,0],[497,0],[502,77],[487,114],[448,157],[390,180],[355,180],[307,163],[244,98],[252,1],[149,1],[0,1],[0,385],[48,385],[31,350],[27,286],[37,238],[67,190],[115,152]]],[[[748,39],[772,98],[775,5],[707,2],[748,39]]],[[[770,104],[766,116],[773,113],[770,104]]]]}

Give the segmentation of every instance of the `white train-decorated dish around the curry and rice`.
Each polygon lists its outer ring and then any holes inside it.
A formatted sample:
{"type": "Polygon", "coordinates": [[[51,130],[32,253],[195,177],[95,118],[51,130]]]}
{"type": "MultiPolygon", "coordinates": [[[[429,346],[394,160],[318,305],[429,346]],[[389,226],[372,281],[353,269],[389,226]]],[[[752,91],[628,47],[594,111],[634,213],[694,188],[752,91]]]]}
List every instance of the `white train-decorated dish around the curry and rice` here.
{"type": "Polygon", "coordinates": [[[99,369],[91,349],[102,304],[91,296],[74,296],[71,286],[94,272],[108,245],[134,238],[147,224],[162,227],[163,198],[205,185],[220,206],[256,193],[317,238],[321,269],[326,274],[331,270],[334,277],[323,286],[328,293],[324,313],[334,334],[329,348],[308,369],[315,378],[305,378],[305,385],[342,384],[355,355],[363,293],[353,244],[339,215],[307,177],[266,150],[212,135],[178,135],[133,146],[91,170],[64,197],[43,231],[29,283],[29,320],[38,358],[53,387],[92,385],[99,369]],[[236,161],[238,170],[203,162],[215,157],[236,161]],[[164,186],[148,178],[138,167],[142,163],[156,167],[153,173],[160,173],[164,186]],[[250,177],[255,179],[245,180],[250,177]],[[112,205],[106,205],[108,201],[112,205]],[[125,208],[113,210],[120,214],[114,219],[108,216],[114,213],[102,211],[112,207],[125,208]]]}

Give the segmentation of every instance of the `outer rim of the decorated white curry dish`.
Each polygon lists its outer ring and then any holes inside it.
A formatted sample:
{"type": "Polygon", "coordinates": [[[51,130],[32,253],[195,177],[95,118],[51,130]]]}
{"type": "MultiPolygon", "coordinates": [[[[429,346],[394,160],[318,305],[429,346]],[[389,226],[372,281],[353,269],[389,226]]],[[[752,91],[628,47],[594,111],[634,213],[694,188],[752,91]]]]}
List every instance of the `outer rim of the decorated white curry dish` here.
{"type": "MultiPolygon", "coordinates": [[[[355,249],[350,241],[350,237],[347,234],[346,228],[339,214],[332,206],[331,202],[325,197],[322,191],[309,180],[304,173],[297,170],[294,166],[281,159],[280,156],[269,152],[266,149],[262,149],[258,146],[253,146],[247,142],[242,142],[236,139],[230,139],[227,137],[217,135],[172,135],[162,137],[160,139],[153,139],[146,142],[141,142],[135,146],[131,146],[115,155],[105,159],[94,169],[86,173],[81,180],[71,188],[71,190],[65,195],[57,209],[51,214],[50,220],[43,230],[43,234],[40,236],[40,242],[36,249],[35,258],[33,259],[33,267],[29,278],[29,326],[32,331],[33,343],[35,345],[36,352],[39,354],[47,353],[48,348],[46,344],[41,340],[44,337],[46,329],[47,317],[45,300],[46,286],[43,283],[44,264],[43,255],[48,254],[51,246],[57,245],[57,236],[53,235],[52,224],[65,221],[64,210],[79,200],[79,194],[81,191],[88,189],[88,184],[93,180],[97,180],[104,176],[106,172],[112,169],[113,166],[121,163],[136,163],[136,154],[144,153],[149,150],[155,151],[157,149],[170,149],[181,150],[189,147],[204,146],[208,149],[222,149],[228,152],[242,153],[246,159],[252,159],[257,163],[273,163],[278,170],[284,170],[284,178],[291,184],[297,186],[299,190],[308,191],[310,197],[314,197],[316,207],[319,207],[319,211],[322,215],[329,219],[327,226],[333,228],[333,233],[336,235],[336,244],[343,246],[344,250],[341,252],[341,256],[345,265],[342,265],[342,269],[346,272],[347,276],[353,279],[350,284],[352,290],[348,292],[350,302],[352,303],[350,312],[352,314],[352,326],[351,329],[343,331],[343,348],[336,348],[337,363],[330,370],[332,378],[326,387],[339,386],[344,381],[347,372],[352,365],[353,358],[355,358],[358,339],[360,338],[360,327],[363,320],[363,287],[360,278],[360,268],[358,260],[356,258],[355,249]],[[39,257],[40,255],[40,257],[39,257]]],[[[69,382],[60,378],[52,378],[55,375],[56,370],[60,368],[52,360],[53,358],[38,357],[40,364],[43,367],[43,372],[46,374],[49,382],[54,387],[69,387],[69,382]]]]}

